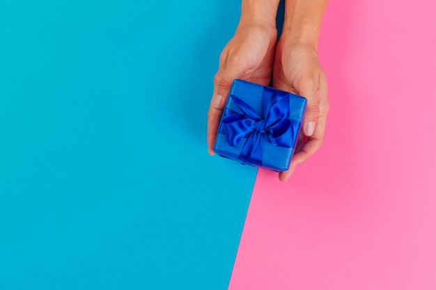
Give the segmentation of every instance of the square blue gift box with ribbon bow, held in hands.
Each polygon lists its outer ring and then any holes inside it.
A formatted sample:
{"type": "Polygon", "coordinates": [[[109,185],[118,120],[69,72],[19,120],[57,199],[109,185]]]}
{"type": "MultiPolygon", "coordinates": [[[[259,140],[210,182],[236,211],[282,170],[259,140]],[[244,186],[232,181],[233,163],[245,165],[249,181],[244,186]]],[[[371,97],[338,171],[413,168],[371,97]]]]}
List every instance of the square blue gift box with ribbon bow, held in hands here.
{"type": "Polygon", "coordinates": [[[306,98],[256,83],[233,81],[214,151],[277,172],[289,168],[306,98]]]}

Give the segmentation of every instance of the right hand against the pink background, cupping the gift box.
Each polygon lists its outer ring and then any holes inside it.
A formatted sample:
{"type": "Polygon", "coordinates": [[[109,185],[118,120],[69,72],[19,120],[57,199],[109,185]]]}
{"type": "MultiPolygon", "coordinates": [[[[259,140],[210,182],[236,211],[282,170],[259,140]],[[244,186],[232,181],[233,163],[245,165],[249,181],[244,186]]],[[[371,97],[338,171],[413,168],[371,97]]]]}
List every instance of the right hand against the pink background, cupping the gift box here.
{"type": "Polygon", "coordinates": [[[287,43],[283,38],[277,43],[272,75],[274,88],[307,99],[299,144],[289,170],[279,174],[279,179],[286,182],[297,165],[309,159],[322,145],[329,111],[327,79],[313,46],[287,43]]]}

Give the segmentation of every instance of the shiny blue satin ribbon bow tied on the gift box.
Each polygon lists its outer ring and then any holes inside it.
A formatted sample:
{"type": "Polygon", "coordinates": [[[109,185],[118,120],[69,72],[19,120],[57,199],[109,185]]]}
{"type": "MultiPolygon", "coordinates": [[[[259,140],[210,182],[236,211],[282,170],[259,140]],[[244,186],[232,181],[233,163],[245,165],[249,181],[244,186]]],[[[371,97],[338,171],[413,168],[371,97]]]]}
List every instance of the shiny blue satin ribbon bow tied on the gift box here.
{"type": "Polygon", "coordinates": [[[275,90],[264,89],[262,96],[262,112],[258,115],[249,104],[235,95],[230,95],[233,103],[241,113],[226,108],[223,124],[226,138],[231,146],[238,145],[244,138],[245,144],[238,156],[241,163],[262,163],[260,138],[265,138],[275,146],[293,147],[295,134],[293,122],[290,120],[289,94],[279,95],[275,90]],[[266,117],[264,118],[264,115],[266,117]]]}

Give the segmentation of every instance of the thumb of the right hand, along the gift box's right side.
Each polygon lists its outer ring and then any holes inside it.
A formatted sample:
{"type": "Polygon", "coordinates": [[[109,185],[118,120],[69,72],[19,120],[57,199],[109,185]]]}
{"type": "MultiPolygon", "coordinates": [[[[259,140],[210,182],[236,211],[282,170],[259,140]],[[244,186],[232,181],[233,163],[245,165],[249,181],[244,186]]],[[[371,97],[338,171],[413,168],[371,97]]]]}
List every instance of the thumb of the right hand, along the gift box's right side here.
{"type": "Polygon", "coordinates": [[[320,114],[320,108],[318,106],[318,83],[308,82],[304,89],[300,91],[302,97],[306,97],[306,111],[304,113],[303,119],[303,133],[304,135],[310,137],[315,131],[316,120],[320,114]]]}

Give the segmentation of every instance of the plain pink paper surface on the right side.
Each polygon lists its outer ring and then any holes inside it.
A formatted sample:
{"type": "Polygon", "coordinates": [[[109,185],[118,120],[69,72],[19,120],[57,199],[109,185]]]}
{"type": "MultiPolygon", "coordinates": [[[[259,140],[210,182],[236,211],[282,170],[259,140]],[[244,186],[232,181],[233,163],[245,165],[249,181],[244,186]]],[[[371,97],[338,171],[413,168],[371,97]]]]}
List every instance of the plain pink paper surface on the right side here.
{"type": "Polygon", "coordinates": [[[259,170],[230,290],[436,289],[436,2],[330,1],[325,143],[259,170]]]}

